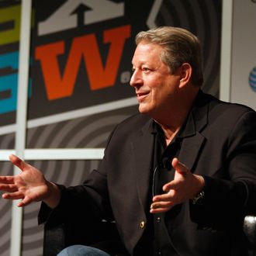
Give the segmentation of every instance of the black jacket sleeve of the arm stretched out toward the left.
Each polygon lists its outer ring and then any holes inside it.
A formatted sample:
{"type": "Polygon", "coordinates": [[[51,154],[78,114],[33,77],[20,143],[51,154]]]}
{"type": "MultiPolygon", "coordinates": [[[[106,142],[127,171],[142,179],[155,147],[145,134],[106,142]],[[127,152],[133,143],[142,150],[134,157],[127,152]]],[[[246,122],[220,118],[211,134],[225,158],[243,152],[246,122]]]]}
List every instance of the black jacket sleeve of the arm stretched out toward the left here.
{"type": "MultiPolygon", "coordinates": [[[[106,150],[113,132],[107,141],[106,150]]],[[[99,171],[92,170],[82,185],[70,187],[58,185],[61,189],[59,205],[55,209],[50,209],[42,202],[38,223],[66,223],[79,218],[80,220],[89,220],[89,222],[112,221],[107,173],[101,168],[104,166],[104,161],[103,157],[99,171]]]]}

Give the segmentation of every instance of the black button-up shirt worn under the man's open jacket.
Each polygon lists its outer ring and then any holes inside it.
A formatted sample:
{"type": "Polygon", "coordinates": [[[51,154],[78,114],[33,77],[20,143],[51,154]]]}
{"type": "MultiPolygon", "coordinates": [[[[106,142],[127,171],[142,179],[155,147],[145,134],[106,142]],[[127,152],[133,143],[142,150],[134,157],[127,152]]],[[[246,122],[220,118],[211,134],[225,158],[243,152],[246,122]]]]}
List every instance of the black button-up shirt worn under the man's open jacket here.
{"type": "MultiPolygon", "coordinates": [[[[152,177],[152,197],[163,194],[164,184],[171,182],[175,176],[175,170],[171,166],[174,157],[178,157],[184,137],[189,136],[194,130],[192,114],[176,134],[171,143],[166,146],[164,132],[157,123],[153,123],[154,134],[154,173],[152,177]]],[[[182,210],[182,205],[174,206],[167,213],[155,213],[152,218],[154,230],[154,255],[178,256],[175,245],[171,242],[170,230],[174,217],[182,210]]]]}

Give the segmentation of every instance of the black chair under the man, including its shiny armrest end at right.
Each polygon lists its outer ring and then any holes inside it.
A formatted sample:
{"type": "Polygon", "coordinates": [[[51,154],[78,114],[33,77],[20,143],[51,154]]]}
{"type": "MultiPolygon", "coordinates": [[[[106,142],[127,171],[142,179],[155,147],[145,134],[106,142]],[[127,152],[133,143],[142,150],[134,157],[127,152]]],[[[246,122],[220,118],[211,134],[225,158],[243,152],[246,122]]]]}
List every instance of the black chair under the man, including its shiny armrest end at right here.
{"type": "MultiPolygon", "coordinates": [[[[256,216],[245,216],[244,234],[248,240],[248,255],[256,256],[256,216]]],[[[111,248],[115,247],[119,248],[119,251],[123,251],[116,230],[116,223],[105,221],[94,223],[86,227],[86,232],[85,227],[81,227],[81,223],[58,224],[57,226],[46,223],[44,225],[43,256],[56,256],[64,247],[71,244],[96,244],[95,247],[97,247],[97,244],[102,245],[102,243],[106,245],[106,251],[108,251],[109,245],[111,248]]]]}

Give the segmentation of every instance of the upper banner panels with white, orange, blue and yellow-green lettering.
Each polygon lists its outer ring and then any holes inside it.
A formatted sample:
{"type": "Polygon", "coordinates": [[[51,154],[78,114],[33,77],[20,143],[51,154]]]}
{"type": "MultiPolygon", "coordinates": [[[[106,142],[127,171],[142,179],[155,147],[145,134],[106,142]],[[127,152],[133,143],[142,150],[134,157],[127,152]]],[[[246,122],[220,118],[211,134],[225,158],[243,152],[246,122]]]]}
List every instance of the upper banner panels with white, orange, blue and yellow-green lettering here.
{"type": "MultiPolygon", "coordinates": [[[[33,3],[28,119],[134,97],[129,85],[134,36],[148,29],[157,1],[140,2],[141,7],[129,0],[33,3]]],[[[20,5],[2,7],[0,14],[0,126],[5,126],[15,122],[20,5]]]]}

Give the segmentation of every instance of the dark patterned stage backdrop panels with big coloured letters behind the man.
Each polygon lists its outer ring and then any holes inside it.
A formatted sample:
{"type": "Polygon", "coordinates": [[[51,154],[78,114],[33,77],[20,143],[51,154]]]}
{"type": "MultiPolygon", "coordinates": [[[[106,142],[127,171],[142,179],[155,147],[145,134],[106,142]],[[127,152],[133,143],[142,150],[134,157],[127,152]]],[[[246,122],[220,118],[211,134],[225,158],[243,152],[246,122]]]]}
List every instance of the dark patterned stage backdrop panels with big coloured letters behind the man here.
{"type": "MultiPolygon", "coordinates": [[[[27,15],[30,15],[29,13],[27,15]]],[[[20,2],[0,2],[0,150],[16,139],[20,2]]],[[[203,89],[219,95],[221,0],[33,1],[26,147],[102,148],[121,120],[137,112],[130,88],[134,36],[153,26],[199,36],[203,89]]],[[[99,161],[32,161],[53,182],[81,183],[99,161]]],[[[1,174],[12,165],[0,162],[1,174]]],[[[42,255],[39,203],[24,210],[22,255],[42,255]]],[[[0,252],[9,255],[11,204],[0,199],[0,252]]]]}

